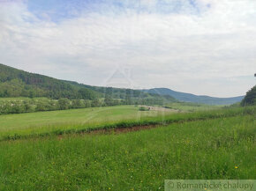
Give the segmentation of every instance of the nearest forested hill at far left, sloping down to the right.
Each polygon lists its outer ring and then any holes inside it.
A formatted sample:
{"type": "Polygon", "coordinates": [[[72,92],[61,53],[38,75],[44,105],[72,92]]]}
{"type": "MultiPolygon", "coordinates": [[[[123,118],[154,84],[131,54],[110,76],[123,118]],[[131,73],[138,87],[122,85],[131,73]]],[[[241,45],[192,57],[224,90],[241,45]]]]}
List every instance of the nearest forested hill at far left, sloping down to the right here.
{"type": "Polygon", "coordinates": [[[94,92],[53,77],[17,70],[0,64],[0,97],[49,97],[52,99],[93,99],[94,92]]]}

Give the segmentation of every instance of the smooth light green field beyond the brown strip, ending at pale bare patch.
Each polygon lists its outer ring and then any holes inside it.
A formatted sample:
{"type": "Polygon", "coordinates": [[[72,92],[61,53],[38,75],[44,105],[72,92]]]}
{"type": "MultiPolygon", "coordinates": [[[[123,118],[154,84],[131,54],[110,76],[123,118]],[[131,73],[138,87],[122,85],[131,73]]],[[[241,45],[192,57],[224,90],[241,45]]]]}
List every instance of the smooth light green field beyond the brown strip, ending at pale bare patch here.
{"type": "Polygon", "coordinates": [[[0,137],[14,134],[49,132],[56,129],[74,129],[80,126],[96,126],[106,122],[124,120],[139,121],[145,117],[164,116],[173,111],[144,111],[138,107],[91,107],[62,111],[37,112],[28,114],[0,115],[0,137]]]}

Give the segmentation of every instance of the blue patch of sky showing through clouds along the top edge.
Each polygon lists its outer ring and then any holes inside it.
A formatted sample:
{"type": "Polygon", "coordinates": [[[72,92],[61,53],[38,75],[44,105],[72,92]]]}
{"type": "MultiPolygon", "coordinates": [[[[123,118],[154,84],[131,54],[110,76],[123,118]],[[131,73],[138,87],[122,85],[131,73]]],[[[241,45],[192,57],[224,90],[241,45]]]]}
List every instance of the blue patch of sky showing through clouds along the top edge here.
{"type": "MultiPolygon", "coordinates": [[[[157,13],[157,14],[175,14],[188,6],[190,14],[200,14],[200,7],[196,0],[187,0],[185,4],[180,0],[157,1],[154,6],[148,6],[147,3],[138,3],[138,0],[117,1],[117,0],[28,0],[27,9],[36,17],[45,19],[45,15],[53,22],[61,22],[64,19],[77,18],[81,14],[99,13],[118,15],[124,11],[136,11],[138,14],[157,13]]],[[[210,4],[207,4],[210,7],[210,4]]]]}

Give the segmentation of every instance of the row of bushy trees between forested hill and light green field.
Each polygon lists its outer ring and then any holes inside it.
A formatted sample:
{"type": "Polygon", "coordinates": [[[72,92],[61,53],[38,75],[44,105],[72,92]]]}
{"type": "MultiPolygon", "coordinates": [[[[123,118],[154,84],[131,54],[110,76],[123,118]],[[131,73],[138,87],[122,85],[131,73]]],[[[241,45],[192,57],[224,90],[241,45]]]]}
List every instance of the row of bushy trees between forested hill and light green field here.
{"type": "Polygon", "coordinates": [[[21,114],[87,107],[110,107],[117,105],[162,105],[161,99],[4,99],[0,101],[0,114],[21,114]]]}

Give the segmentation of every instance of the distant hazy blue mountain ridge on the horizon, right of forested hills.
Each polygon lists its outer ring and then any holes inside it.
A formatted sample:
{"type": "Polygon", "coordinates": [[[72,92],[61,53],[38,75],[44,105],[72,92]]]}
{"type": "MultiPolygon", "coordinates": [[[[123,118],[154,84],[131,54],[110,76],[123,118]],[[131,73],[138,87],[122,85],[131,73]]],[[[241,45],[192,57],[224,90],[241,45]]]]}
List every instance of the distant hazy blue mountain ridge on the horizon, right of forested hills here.
{"type": "Polygon", "coordinates": [[[143,92],[155,93],[159,95],[169,95],[179,101],[194,102],[208,105],[230,105],[241,101],[245,97],[237,96],[232,98],[215,98],[205,95],[194,95],[192,93],[176,92],[168,88],[153,88],[149,90],[143,90],[143,92]]]}

